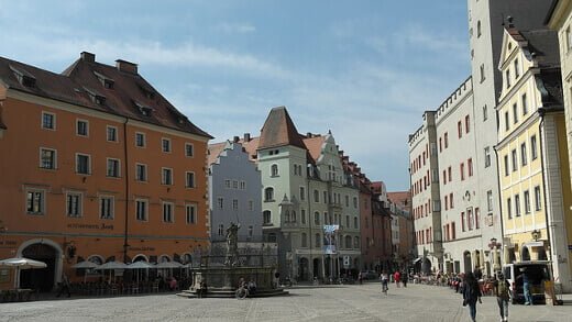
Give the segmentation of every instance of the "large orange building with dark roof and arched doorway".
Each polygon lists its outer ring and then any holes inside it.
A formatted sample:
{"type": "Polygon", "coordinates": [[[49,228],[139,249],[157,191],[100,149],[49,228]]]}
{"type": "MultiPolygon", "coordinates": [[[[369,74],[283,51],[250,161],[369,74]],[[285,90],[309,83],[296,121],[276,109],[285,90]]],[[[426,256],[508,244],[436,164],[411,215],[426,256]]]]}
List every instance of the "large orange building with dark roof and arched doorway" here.
{"type": "MultiPolygon", "coordinates": [[[[0,57],[0,259],[51,290],[81,260],[189,262],[209,244],[207,143],[141,75],[81,56],[62,74],[0,57]]],[[[0,289],[14,287],[0,268],[0,289]]]]}

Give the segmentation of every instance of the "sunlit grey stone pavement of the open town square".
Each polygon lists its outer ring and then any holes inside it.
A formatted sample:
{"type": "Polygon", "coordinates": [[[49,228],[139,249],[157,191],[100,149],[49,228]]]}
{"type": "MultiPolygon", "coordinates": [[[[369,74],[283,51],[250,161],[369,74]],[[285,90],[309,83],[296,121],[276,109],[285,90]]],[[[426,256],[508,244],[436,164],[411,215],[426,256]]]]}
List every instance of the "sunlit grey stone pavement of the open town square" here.
{"type": "MultiPolygon", "coordinates": [[[[175,295],[46,299],[0,303],[0,321],[470,321],[460,295],[446,287],[409,285],[381,293],[377,282],[294,287],[290,296],[187,299],[175,295]]],[[[510,306],[509,321],[572,321],[565,306],[510,306]]],[[[477,321],[499,321],[496,299],[483,298],[477,321]]]]}

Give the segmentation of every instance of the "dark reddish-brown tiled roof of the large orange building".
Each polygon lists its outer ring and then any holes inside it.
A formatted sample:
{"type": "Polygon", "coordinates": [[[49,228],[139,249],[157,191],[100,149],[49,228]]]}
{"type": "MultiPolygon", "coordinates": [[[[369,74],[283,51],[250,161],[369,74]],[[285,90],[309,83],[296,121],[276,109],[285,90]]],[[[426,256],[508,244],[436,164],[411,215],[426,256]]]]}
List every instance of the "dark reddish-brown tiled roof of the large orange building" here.
{"type": "Polygon", "coordinates": [[[0,84],[38,97],[212,138],[173,107],[136,68],[134,73],[125,73],[95,62],[95,55],[89,53],[82,53],[63,74],[0,57],[0,84]],[[19,79],[22,76],[32,77],[33,86],[25,86],[19,79]],[[105,87],[102,77],[112,82],[112,88],[105,87]],[[135,102],[147,106],[152,113],[145,115],[135,102]]]}

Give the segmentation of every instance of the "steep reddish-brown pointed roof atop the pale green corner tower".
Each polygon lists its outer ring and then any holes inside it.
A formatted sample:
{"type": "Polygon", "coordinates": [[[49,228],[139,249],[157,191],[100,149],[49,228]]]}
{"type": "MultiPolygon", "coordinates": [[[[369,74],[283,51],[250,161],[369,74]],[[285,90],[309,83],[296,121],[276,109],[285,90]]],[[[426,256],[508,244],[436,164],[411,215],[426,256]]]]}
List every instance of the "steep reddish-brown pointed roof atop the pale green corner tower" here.
{"type": "Polygon", "coordinates": [[[262,126],[258,149],[285,145],[307,149],[286,108],[277,107],[271,110],[262,126]]]}

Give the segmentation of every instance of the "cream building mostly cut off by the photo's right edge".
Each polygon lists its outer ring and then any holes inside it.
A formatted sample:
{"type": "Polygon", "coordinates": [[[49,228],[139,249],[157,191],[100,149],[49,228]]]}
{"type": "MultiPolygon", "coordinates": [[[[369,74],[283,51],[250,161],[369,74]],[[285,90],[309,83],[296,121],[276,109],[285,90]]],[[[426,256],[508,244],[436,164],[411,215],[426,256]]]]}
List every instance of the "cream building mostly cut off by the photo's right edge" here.
{"type": "MultiPolygon", "coordinates": [[[[550,29],[558,32],[560,47],[560,67],[562,71],[562,88],[564,93],[564,114],[568,129],[568,149],[569,149],[569,167],[572,173],[572,0],[558,0],[552,3],[549,12],[547,24],[550,29]]],[[[563,137],[563,136],[560,136],[563,137]]],[[[564,170],[564,168],[562,168],[564,170]]],[[[570,193],[571,186],[563,186],[564,191],[570,193]]],[[[572,204],[564,204],[565,209],[570,209],[572,204]]],[[[572,244],[572,220],[565,218],[566,241],[572,244]]],[[[570,264],[572,266],[572,264],[570,264]]],[[[572,290],[572,287],[571,289],[572,290]]]]}

